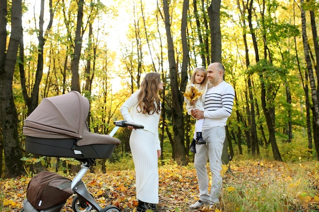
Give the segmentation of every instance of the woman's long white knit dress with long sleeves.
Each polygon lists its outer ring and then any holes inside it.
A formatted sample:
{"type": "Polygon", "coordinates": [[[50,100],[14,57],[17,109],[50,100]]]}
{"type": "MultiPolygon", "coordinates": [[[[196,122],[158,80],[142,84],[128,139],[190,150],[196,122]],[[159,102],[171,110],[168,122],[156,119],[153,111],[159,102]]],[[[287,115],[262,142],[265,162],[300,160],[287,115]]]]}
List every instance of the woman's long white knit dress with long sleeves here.
{"type": "Polygon", "coordinates": [[[158,204],[158,162],[157,150],[161,149],[158,139],[160,114],[143,114],[138,106],[137,90],[121,106],[121,114],[127,122],[144,126],[144,129],[132,130],[129,146],[136,174],[136,197],[143,202],[158,204]]]}

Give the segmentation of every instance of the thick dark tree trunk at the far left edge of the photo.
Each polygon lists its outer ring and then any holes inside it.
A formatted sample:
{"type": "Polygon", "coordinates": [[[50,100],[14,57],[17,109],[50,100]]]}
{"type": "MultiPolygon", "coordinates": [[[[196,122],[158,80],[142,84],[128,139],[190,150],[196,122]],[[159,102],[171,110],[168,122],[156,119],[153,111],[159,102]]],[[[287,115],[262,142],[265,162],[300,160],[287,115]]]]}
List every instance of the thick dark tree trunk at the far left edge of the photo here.
{"type": "Polygon", "coordinates": [[[23,163],[18,137],[18,119],[14,104],[12,82],[17,62],[17,53],[22,39],[21,0],[13,0],[11,7],[11,33],[8,48],[7,40],[7,1],[0,0],[0,121],[4,141],[6,176],[17,177],[23,174],[23,163]]]}

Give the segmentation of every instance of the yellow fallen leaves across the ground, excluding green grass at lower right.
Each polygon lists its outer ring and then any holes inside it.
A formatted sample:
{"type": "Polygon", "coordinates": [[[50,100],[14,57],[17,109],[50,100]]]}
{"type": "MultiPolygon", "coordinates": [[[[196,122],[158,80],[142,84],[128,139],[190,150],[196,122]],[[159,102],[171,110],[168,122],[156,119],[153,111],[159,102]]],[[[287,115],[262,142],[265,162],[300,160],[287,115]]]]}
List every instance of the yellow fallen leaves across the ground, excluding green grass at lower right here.
{"type": "MultiPolygon", "coordinates": [[[[307,205],[317,206],[319,205],[319,175],[318,169],[314,169],[313,167],[318,168],[319,163],[312,162],[311,166],[309,166],[307,163],[292,165],[266,161],[232,161],[230,163],[230,171],[222,173],[222,175],[224,175],[224,179],[221,203],[210,211],[231,211],[227,208],[233,203],[226,202],[223,200],[224,197],[226,199],[226,196],[231,194],[238,196],[242,195],[244,198],[245,192],[247,193],[247,191],[250,189],[250,186],[251,188],[267,188],[270,186],[272,181],[279,179],[287,182],[285,184],[287,187],[287,192],[293,191],[298,187],[298,181],[291,180],[296,177],[296,175],[306,177],[308,181],[311,182],[309,187],[313,187],[313,191],[316,191],[313,193],[309,193],[307,191],[297,192],[296,197],[294,197],[296,202],[298,204],[304,202],[307,205]],[[304,175],[304,173],[306,174],[304,175]],[[238,191],[238,187],[240,185],[245,185],[245,191],[238,191]],[[234,194],[234,192],[237,193],[234,194]]],[[[225,172],[227,169],[228,166],[223,167],[222,172],[225,172]]],[[[188,209],[188,206],[199,199],[194,164],[183,167],[176,164],[160,166],[158,173],[158,211],[191,211],[188,209]]],[[[208,174],[208,176],[209,179],[211,179],[211,175],[208,174]]],[[[69,178],[72,177],[69,176],[69,178]]],[[[25,192],[30,179],[31,178],[29,177],[21,176],[18,178],[0,180],[0,200],[4,199],[4,211],[20,211],[22,209],[22,202],[25,199],[25,192]]],[[[96,202],[98,202],[101,207],[113,204],[119,207],[123,212],[136,211],[135,208],[138,202],[136,200],[134,170],[110,171],[107,174],[87,173],[82,180],[86,184],[89,192],[95,198],[96,202]]],[[[287,195],[289,194],[287,193],[287,195]]],[[[267,201],[262,199],[257,200],[267,201]]],[[[72,197],[67,200],[61,211],[73,211],[71,204],[72,197]]],[[[319,209],[319,207],[315,209],[319,209]]],[[[205,205],[197,211],[209,211],[209,205],[205,205]]],[[[240,211],[240,209],[238,208],[237,211],[240,211]]]]}

